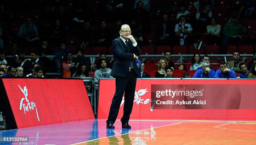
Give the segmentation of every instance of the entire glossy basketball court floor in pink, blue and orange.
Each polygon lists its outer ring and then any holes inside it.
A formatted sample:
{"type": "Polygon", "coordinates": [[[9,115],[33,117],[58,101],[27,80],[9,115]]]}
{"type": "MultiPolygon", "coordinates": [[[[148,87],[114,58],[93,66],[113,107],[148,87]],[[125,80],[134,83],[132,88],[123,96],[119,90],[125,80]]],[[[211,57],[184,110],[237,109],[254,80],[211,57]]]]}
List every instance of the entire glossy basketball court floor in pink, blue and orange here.
{"type": "Polygon", "coordinates": [[[0,131],[0,137],[28,136],[28,143],[0,145],[256,145],[256,122],[131,120],[131,129],[107,129],[105,120],[84,120],[0,131]]]}

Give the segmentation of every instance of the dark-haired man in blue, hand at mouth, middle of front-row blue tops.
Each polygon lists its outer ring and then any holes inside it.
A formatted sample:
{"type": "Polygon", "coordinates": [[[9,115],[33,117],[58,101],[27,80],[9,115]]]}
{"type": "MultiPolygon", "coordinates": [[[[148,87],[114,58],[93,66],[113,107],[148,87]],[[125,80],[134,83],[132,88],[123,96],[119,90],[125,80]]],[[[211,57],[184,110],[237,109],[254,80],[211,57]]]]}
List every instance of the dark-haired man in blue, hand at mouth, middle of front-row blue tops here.
{"type": "Polygon", "coordinates": [[[236,78],[236,72],[228,68],[225,61],[221,61],[219,66],[220,69],[216,71],[214,78],[236,78]]]}

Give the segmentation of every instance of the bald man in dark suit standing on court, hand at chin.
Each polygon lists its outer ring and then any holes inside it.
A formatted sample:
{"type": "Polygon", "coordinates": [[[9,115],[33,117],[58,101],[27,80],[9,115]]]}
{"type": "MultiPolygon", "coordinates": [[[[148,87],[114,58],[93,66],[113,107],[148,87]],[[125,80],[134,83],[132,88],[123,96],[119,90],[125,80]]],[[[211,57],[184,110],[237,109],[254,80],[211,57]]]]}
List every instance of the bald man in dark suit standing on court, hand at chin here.
{"type": "Polygon", "coordinates": [[[122,128],[131,128],[128,122],[133,108],[137,76],[140,75],[135,60],[141,55],[141,49],[131,35],[129,25],[122,25],[119,34],[120,37],[112,42],[115,62],[110,75],[115,77],[115,95],[106,121],[107,128],[115,128],[113,124],[118,116],[124,92],[125,102],[121,123],[122,128]]]}

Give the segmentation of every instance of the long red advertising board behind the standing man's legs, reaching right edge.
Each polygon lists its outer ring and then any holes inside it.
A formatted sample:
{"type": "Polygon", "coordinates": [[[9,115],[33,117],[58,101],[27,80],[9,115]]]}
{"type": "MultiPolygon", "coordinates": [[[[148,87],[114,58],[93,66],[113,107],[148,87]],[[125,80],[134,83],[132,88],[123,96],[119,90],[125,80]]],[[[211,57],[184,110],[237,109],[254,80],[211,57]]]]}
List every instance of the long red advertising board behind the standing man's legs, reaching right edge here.
{"type": "MultiPolygon", "coordinates": [[[[255,85],[256,80],[138,79],[131,119],[256,120],[255,85]],[[156,91],[167,88],[167,91],[185,90],[190,94],[179,96],[176,93],[172,97],[163,92],[160,101],[169,97],[174,104],[157,106],[156,91]],[[191,92],[201,96],[194,98],[191,92]],[[185,104],[185,101],[199,104],[185,104]]],[[[100,80],[99,119],[108,118],[114,93],[115,80],[100,80]]],[[[123,115],[123,103],[124,99],[118,119],[123,115]]]]}

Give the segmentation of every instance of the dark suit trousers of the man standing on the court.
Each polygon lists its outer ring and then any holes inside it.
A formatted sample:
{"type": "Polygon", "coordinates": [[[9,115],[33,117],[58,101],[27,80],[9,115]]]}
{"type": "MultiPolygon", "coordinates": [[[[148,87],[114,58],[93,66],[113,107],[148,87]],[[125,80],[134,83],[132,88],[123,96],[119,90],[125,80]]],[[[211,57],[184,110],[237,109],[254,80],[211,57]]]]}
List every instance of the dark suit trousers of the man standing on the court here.
{"type": "Polygon", "coordinates": [[[124,95],[122,123],[128,123],[133,109],[134,93],[136,88],[137,75],[134,71],[129,71],[125,77],[115,78],[115,95],[112,99],[107,123],[115,123],[118,116],[120,104],[124,95]]]}

